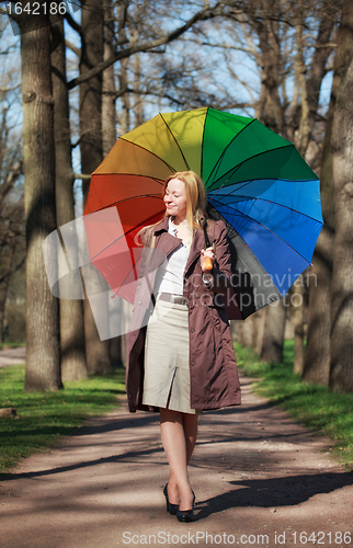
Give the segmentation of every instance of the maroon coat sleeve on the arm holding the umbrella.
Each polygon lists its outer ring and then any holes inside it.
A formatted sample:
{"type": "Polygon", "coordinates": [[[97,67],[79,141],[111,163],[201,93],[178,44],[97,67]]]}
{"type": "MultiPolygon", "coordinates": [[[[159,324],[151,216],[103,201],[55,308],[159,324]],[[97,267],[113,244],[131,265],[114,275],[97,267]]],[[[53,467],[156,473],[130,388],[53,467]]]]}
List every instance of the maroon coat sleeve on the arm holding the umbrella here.
{"type": "Polygon", "coordinates": [[[224,293],[231,287],[231,255],[227,239],[227,228],[223,220],[213,224],[215,263],[206,287],[214,293],[224,293]]]}

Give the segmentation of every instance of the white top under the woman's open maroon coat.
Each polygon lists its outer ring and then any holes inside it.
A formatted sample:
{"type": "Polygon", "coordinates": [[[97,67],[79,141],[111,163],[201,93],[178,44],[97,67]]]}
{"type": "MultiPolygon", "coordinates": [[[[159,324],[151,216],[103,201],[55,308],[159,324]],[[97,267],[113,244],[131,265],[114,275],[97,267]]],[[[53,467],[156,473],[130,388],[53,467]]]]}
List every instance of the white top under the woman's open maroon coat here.
{"type": "MultiPolygon", "coordinates": [[[[176,228],[169,218],[168,232],[175,236],[176,228]]],[[[170,293],[172,295],[183,295],[184,270],[190,252],[190,246],[185,248],[181,242],[169,259],[166,259],[159,266],[156,274],[153,294],[170,293]]]]}

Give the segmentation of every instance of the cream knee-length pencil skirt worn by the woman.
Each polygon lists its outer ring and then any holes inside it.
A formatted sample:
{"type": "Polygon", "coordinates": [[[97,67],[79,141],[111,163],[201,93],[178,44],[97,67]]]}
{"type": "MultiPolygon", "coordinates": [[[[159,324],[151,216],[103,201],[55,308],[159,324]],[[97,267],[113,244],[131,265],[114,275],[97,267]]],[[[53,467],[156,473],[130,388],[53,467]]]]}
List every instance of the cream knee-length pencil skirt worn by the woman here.
{"type": "Polygon", "coordinates": [[[190,407],[186,305],[156,302],[147,326],[143,403],[182,413],[200,412],[190,407]]]}

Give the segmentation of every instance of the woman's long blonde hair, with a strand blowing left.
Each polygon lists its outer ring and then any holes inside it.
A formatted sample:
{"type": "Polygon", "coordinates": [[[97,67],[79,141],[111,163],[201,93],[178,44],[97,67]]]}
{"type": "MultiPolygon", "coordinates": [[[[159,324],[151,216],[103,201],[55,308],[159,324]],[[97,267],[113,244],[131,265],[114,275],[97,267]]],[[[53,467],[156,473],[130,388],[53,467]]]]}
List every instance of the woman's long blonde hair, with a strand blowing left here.
{"type": "MultiPolygon", "coordinates": [[[[185,185],[185,194],[186,194],[186,220],[187,225],[191,229],[201,230],[202,221],[205,218],[205,209],[207,204],[207,196],[205,185],[197,173],[194,171],[176,171],[168,179],[166,179],[162,190],[162,197],[164,198],[167,186],[169,181],[172,179],[179,179],[185,185]]],[[[167,209],[163,217],[153,225],[149,225],[148,227],[141,228],[139,232],[135,237],[135,242],[138,243],[138,238],[140,236],[144,237],[144,244],[148,247],[155,246],[155,236],[153,228],[161,222],[166,217],[169,217],[167,209]]]]}

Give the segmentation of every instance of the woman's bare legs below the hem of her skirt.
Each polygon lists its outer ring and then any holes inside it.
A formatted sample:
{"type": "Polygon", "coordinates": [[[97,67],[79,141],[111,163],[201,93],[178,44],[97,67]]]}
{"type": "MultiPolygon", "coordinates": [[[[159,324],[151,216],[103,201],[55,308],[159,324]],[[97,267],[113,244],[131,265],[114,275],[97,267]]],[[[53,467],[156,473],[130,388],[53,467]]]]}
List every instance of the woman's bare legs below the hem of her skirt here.
{"type": "Polygon", "coordinates": [[[193,503],[187,463],[196,443],[197,420],[197,414],[160,408],[161,437],[170,466],[168,493],[170,502],[179,504],[180,510],[190,510],[193,503]]]}

